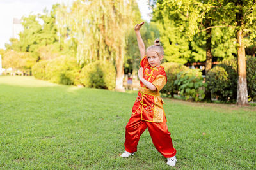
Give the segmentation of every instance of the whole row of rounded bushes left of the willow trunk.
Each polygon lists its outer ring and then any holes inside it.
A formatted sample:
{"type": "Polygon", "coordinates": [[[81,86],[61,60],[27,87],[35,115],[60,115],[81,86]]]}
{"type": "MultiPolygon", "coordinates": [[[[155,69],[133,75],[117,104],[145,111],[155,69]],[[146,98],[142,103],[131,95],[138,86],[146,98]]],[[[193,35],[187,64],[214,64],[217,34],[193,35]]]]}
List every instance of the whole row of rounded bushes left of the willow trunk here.
{"type": "Polygon", "coordinates": [[[35,78],[64,85],[84,85],[112,90],[115,88],[115,67],[109,62],[93,62],[82,69],[76,59],[61,56],[52,60],[42,60],[32,67],[35,78]]]}

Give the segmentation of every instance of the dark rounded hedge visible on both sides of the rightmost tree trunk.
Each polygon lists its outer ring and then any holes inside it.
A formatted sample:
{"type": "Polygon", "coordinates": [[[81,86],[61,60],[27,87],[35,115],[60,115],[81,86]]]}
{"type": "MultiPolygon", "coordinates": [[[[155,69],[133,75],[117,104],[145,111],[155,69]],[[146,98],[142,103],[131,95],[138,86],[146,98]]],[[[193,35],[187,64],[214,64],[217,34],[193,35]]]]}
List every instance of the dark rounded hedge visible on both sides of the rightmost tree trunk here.
{"type": "MultiPolygon", "coordinates": [[[[237,98],[237,60],[234,57],[223,60],[207,75],[207,89],[212,97],[220,101],[235,102],[237,98]]],[[[256,57],[246,60],[246,80],[249,101],[256,101],[256,57]]]]}

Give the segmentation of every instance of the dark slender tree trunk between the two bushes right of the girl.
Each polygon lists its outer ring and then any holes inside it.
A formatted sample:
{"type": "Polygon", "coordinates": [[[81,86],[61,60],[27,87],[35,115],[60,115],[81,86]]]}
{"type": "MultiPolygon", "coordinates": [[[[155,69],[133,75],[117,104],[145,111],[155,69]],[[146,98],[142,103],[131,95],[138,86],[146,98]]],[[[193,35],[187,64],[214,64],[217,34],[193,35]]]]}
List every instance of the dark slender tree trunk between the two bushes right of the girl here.
{"type": "MultiPolygon", "coordinates": [[[[205,27],[210,27],[211,21],[205,20],[205,27]]],[[[212,45],[212,29],[206,30],[206,61],[205,61],[205,80],[207,77],[207,73],[212,68],[212,52],[211,52],[211,45],[212,45]]],[[[211,101],[211,92],[207,87],[205,88],[205,100],[211,101]]]]}

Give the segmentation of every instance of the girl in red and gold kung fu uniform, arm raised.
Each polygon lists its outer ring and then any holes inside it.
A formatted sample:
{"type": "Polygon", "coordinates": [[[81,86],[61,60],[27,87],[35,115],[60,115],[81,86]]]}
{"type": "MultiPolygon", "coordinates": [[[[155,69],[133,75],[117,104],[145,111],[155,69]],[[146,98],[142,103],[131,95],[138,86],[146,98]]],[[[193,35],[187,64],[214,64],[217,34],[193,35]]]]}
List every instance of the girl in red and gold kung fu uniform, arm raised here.
{"type": "Polygon", "coordinates": [[[163,46],[160,46],[159,39],[156,39],[155,44],[148,47],[145,52],[145,45],[140,35],[143,24],[144,22],[141,22],[134,27],[141,55],[141,68],[138,71],[140,89],[132,108],[131,118],[125,127],[125,151],[120,156],[134,155],[141,134],[148,128],[158,152],[167,158],[169,166],[175,166],[176,150],[173,148],[172,138],[167,129],[163,100],[159,95],[159,91],[167,81],[164,67],[160,66],[164,55],[163,46]]]}

